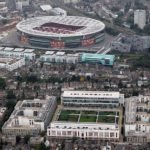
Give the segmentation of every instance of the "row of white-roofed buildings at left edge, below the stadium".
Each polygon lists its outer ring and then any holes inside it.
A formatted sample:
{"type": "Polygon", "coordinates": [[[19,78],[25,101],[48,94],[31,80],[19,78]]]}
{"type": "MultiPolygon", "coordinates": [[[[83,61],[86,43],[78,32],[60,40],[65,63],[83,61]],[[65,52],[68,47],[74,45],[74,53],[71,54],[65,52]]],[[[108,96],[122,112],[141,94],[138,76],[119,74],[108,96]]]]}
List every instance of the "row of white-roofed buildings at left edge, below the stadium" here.
{"type": "Polygon", "coordinates": [[[11,58],[25,58],[26,60],[34,60],[36,54],[34,49],[0,47],[0,55],[11,58]]]}

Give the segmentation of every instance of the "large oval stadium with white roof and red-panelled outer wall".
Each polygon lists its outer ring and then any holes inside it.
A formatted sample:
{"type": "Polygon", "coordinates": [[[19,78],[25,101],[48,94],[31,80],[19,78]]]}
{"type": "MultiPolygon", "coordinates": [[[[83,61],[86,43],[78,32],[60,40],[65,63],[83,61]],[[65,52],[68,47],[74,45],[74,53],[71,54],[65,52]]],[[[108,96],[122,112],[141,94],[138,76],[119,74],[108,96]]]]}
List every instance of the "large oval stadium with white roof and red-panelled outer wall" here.
{"type": "Polygon", "coordinates": [[[75,48],[104,40],[101,21],[78,16],[42,16],[19,22],[16,26],[23,44],[43,48],[75,48]]]}

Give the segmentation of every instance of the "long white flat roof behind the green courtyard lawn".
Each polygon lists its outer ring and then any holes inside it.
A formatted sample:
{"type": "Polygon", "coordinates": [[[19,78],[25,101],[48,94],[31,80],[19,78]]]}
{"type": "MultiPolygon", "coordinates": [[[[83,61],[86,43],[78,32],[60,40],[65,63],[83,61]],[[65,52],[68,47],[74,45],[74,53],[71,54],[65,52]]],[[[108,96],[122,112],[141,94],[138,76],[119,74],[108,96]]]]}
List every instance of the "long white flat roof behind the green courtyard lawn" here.
{"type": "Polygon", "coordinates": [[[112,91],[64,91],[63,97],[119,98],[119,92],[112,91]]]}

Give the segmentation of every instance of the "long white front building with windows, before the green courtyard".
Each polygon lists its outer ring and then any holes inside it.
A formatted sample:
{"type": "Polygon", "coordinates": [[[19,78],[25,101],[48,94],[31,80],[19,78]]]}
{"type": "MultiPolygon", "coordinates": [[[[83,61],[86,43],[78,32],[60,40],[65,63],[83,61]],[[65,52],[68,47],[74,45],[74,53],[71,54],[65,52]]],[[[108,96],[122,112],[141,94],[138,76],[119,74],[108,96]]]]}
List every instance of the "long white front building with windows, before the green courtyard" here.
{"type": "Polygon", "coordinates": [[[47,128],[47,136],[119,140],[120,132],[115,124],[52,122],[47,128]]]}

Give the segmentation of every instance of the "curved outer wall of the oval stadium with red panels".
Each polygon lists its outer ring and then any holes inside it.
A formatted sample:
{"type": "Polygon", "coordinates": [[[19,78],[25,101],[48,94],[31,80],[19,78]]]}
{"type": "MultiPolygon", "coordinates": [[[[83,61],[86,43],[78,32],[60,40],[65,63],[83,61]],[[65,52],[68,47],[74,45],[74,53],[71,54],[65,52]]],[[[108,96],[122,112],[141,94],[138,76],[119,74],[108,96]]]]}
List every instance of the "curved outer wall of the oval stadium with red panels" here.
{"type": "Polygon", "coordinates": [[[29,44],[44,48],[75,48],[86,47],[100,43],[104,40],[104,30],[89,34],[86,36],[72,36],[72,37],[40,37],[36,35],[29,35],[18,30],[18,37],[22,44],[29,44]]]}

